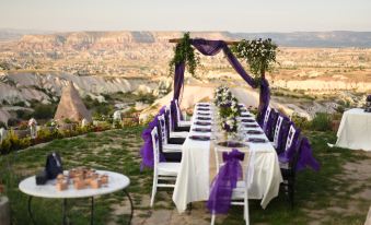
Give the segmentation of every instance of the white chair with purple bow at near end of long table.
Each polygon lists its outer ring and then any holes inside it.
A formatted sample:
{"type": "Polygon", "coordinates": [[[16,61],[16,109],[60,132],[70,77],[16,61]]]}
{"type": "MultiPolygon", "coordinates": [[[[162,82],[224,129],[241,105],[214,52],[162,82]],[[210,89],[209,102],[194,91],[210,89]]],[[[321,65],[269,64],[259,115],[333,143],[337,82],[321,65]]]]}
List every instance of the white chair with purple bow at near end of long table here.
{"type": "Polygon", "coordinates": [[[230,205],[243,205],[243,215],[246,224],[248,216],[248,189],[254,175],[254,152],[240,152],[221,147],[215,150],[218,175],[212,181],[207,208],[211,215],[211,225],[216,214],[228,213],[230,205]],[[218,155],[223,162],[219,162],[218,155]],[[243,166],[240,164],[243,162],[243,166]]]}

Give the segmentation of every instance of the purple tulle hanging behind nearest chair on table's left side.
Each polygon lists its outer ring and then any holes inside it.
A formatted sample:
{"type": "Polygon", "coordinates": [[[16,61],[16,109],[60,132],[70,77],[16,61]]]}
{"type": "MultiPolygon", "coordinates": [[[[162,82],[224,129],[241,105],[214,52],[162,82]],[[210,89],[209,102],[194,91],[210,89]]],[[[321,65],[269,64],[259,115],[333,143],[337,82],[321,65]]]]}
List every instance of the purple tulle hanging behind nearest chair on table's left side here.
{"type": "MultiPolygon", "coordinates": [[[[162,107],[160,109],[160,114],[164,114],[165,112],[165,108],[162,107]]],[[[158,116],[159,116],[158,115],[158,116]]],[[[153,120],[151,122],[148,123],[148,128],[146,130],[143,130],[141,138],[143,139],[144,143],[142,145],[142,147],[140,149],[140,155],[141,155],[141,165],[140,165],[140,170],[142,170],[144,167],[149,167],[149,168],[153,168],[153,146],[152,146],[152,135],[151,132],[153,130],[154,127],[158,126],[159,123],[159,119],[158,116],[155,116],[153,118],[153,120]]],[[[160,162],[165,161],[165,157],[160,153],[160,162]]]]}

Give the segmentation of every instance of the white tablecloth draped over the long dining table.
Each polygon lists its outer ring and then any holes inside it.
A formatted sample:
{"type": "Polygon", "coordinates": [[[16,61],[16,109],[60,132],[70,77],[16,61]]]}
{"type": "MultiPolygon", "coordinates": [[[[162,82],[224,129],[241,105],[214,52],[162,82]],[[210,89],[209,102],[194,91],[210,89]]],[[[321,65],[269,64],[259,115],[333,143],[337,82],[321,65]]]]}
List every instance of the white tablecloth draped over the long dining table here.
{"type": "MultiPolygon", "coordinates": [[[[194,115],[197,115],[197,106],[194,115]]],[[[193,120],[196,118],[197,116],[194,116],[193,120]]],[[[195,127],[197,126],[193,121],[190,135],[205,134],[193,131],[195,127]]],[[[266,139],[265,134],[262,137],[266,139]]],[[[248,145],[251,151],[255,151],[254,179],[248,197],[262,199],[260,204],[266,208],[269,201],[278,196],[279,185],[282,182],[278,157],[269,142],[248,145]]],[[[195,141],[188,138],[183,144],[181,170],[173,193],[173,201],[181,213],[186,210],[189,202],[207,201],[209,198],[211,147],[213,147],[211,141],[195,141]]]]}

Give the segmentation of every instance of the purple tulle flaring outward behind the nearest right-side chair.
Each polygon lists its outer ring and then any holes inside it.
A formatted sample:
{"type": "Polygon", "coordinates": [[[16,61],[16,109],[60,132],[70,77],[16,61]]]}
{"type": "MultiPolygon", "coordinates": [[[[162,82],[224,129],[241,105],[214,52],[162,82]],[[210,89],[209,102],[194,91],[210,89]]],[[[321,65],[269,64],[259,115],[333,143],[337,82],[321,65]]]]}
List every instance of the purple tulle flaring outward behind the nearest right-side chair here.
{"type": "Polygon", "coordinates": [[[320,169],[318,162],[313,157],[311,143],[304,137],[300,144],[300,155],[298,158],[297,170],[304,169],[306,166],[313,168],[314,170],[320,169]]]}

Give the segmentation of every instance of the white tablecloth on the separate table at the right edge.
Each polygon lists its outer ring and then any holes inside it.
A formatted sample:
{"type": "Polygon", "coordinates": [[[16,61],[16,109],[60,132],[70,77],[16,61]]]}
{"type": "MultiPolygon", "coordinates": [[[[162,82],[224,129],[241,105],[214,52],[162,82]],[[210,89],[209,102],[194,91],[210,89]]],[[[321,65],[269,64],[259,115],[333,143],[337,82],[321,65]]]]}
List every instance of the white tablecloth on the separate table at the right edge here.
{"type": "Polygon", "coordinates": [[[336,146],[371,151],[371,112],[352,108],[344,112],[336,146]]]}

